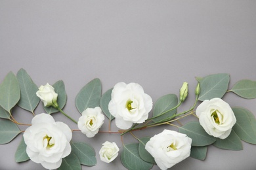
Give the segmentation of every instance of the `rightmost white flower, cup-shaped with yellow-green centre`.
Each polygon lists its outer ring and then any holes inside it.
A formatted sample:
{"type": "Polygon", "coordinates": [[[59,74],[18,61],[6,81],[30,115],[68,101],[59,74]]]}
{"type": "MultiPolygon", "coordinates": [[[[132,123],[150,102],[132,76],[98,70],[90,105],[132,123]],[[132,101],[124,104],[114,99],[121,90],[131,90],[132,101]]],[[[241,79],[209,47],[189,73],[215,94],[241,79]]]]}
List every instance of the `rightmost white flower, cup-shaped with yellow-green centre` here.
{"type": "Polygon", "coordinates": [[[234,112],[220,98],[203,101],[196,109],[196,115],[203,129],[214,137],[225,139],[236,124],[234,112]]]}

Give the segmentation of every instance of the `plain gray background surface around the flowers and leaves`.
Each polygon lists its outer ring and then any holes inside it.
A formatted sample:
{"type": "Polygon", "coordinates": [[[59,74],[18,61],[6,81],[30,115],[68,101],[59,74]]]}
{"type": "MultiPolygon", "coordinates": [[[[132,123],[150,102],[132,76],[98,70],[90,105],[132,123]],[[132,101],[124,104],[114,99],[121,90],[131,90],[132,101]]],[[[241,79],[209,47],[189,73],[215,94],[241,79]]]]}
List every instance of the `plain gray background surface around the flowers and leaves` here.
{"type": "MultiPolygon", "coordinates": [[[[255,9],[256,1],[1,0],[0,81],[20,68],[26,69],[37,86],[63,80],[68,94],[64,111],[76,120],[80,114],[75,96],[93,78],[100,78],[103,93],[120,81],[138,82],[153,101],[167,93],[179,95],[186,81],[190,95],[179,109],[182,111],[194,102],[195,76],[230,73],[229,88],[244,78],[256,80],[255,9]]],[[[224,100],[256,115],[255,99],[228,93],[224,100]]],[[[42,103],[35,110],[41,112],[42,103]]],[[[13,115],[24,123],[33,117],[18,108],[13,115]]],[[[77,129],[62,114],[53,116],[77,129]]],[[[106,122],[102,129],[107,126],[106,122]]],[[[177,130],[162,126],[135,135],[153,136],[165,128],[177,130]]],[[[117,130],[114,122],[112,130],[117,130]]],[[[43,169],[32,161],[15,163],[21,137],[0,145],[0,169],[43,169]]],[[[104,141],[115,141],[122,149],[119,135],[101,133],[88,139],[75,132],[73,140],[95,148],[97,165],[83,169],[125,169],[119,156],[109,164],[98,156],[104,141]]],[[[124,142],[135,139],[125,135],[124,142]]],[[[244,142],[243,146],[242,151],[209,146],[205,161],[188,158],[172,169],[255,169],[256,146],[244,142]]]]}

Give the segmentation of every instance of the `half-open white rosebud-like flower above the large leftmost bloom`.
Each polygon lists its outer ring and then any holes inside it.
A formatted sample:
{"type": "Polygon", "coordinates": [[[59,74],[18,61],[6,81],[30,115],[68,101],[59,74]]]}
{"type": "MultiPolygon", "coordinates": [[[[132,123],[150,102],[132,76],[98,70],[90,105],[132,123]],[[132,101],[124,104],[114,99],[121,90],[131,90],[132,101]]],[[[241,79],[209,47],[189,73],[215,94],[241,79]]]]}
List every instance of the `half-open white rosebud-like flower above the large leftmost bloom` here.
{"type": "Polygon", "coordinates": [[[58,94],[54,91],[53,86],[50,84],[47,83],[45,86],[40,86],[39,90],[36,92],[36,95],[41,99],[41,101],[43,101],[43,105],[45,105],[45,107],[52,105],[58,106],[58,94]]]}

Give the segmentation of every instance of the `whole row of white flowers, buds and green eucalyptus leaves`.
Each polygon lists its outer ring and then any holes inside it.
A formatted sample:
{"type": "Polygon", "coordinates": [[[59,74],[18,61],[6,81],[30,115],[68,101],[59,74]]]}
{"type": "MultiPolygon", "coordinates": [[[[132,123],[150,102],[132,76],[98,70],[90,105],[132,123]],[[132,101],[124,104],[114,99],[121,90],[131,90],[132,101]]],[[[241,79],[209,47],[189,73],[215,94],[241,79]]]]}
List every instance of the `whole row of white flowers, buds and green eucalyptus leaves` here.
{"type": "Polygon", "coordinates": [[[90,138],[99,135],[107,119],[109,129],[105,132],[120,135],[123,146],[119,148],[114,141],[106,141],[98,153],[100,160],[110,163],[121,154],[121,163],[127,169],[151,169],[155,164],[160,169],[168,169],[189,156],[204,160],[210,144],[227,150],[242,150],[241,141],[256,144],[255,116],[243,107],[230,107],[221,99],[229,92],[254,99],[256,82],[240,80],[228,90],[228,74],[196,77],[196,80],[194,105],[178,112],[188,96],[186,82],[182,84],[179,97],[163,95],[153,105],[150,95],[137,83],[118,82],[102,94],[100,80],[95,78],[77,93],[75,107],[81,116],[74,120],[62,110],[67,99],[62,80],[53,86],[47,83],[38,88],[24,69],[16,75],[10,72],[0,84],[0,143],[9,143],[22,133],[16,162],[32,160],[45,169],[81,169],[81,165],[96,165],[94,148],[88,143],[72,141],[72,133],[81,131],[81,135],[90,138]],[[45,113],[35,114],[40,100],[45,113]],[[17,122],[12,116],[14,107],[32,112],[32,123],[17,122]],[[149,116],[151,110],[152,116],[149,116]],[[79,130],[55,122],[54,112],[61,112],[77,124],[79,130]],[[180,121],[186,116],[194,116],[196,120],[182,125],[180,121]],[[119,131],[111,131],[112,120],[119,131]],[[137,137],[133,133],[166,124],[177,127],[178,131],[163,129],[151,137],[137,137]],[[20,131],[19,126],[28,127],[20,131]],[[126,133],[131,133],[138,142],[125,144],[123,135],[126,133]]]}

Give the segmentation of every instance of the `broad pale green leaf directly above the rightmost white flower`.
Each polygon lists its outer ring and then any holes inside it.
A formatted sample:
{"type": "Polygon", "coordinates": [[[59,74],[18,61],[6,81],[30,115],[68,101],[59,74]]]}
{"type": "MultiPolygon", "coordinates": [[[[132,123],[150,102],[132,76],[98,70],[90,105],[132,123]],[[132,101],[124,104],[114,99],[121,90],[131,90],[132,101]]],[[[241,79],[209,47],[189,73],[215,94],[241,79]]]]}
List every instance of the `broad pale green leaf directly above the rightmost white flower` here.
{"type": "Polygon", "coordinates": [[[228,90],[230,77],[228,74],[216,74],[205,76],[200,79],[200,95],[199,100],[209,100],[215,97],[223,97],[228,90]]]}

